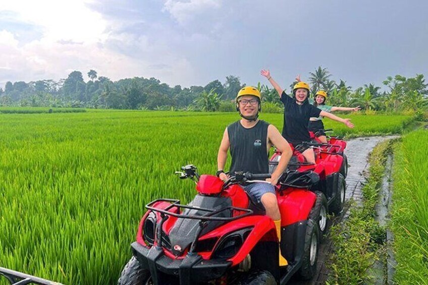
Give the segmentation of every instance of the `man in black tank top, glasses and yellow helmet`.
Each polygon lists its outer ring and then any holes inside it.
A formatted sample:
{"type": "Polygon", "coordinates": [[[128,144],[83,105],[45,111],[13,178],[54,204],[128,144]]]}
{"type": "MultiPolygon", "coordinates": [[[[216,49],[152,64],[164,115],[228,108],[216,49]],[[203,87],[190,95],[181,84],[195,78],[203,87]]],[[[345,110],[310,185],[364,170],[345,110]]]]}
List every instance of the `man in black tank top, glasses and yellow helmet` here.
{"type": "MultiPolygon", "coordinates": [[[[261,109],[260,92],[254,87],[244,87],[238,92],[236,108],[242,119],[229,125],[220,144],[217,156],[217,175],[225,181],[228,176],[224,173],[227,153],[230,149],[232,164],[230,173],[250,172],[252,174],[269,173],[269,149],[272,145],[282,152],[278,167],[272,174],[270,183],[250,183],[242,186],[244,190],[261,204],[270,216],[277,229],[278,239],[281,240],[281,214],[275,192],[275,185],[284,173],[292,151],[288,142],[282,137],[275,126],[258,119],[261,109]]],[[[280,254],[280,266],[287,261],[280,254]]]]}

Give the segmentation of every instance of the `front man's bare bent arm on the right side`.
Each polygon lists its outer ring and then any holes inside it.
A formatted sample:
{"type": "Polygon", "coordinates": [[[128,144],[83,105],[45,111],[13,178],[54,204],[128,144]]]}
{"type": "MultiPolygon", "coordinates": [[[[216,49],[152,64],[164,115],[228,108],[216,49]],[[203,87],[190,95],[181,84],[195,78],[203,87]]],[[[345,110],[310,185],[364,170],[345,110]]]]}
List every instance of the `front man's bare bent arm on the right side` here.
{"type": "Polygon", "coordinates": [[[281,136],[280,132],[274,125],[269,125],[267,128],[267,137],[271,141],[275,147],[281,151],[281,159],[278,163],[277,168],[271,176],[271,184],[276,185],[278,183],[278,179],[285,172],[287,168],[287,164],[290,161],[291,156],[293,155],[293,151],[291,150],[290,145],[286,141],[286,139],[281,136]]]}

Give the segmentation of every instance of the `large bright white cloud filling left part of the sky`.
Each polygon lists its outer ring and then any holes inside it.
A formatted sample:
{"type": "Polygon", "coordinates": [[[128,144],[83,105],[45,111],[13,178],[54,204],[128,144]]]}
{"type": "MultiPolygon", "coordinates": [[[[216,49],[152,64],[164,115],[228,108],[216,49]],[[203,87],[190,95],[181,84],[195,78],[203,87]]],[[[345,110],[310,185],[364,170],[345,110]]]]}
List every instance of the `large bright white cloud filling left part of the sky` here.
{"type": "Polygon", "coordinates": [[[0,30],[0,87],[6,81],[59,80],[74,70],[94,69],[112,80],[156,77],[169,84],[187,83],[189,62],[169,54],[164,43],[145,35],[115,33],[115,22],[89,10],[86,0],[14,0],[2,2],[14,23],[39,27],[40,38],[19,42],[17,33],[0,30]],[[113,44],[112,44],[113,43],[113,44]],[[127,54],[124,53],[127,50],[127,54]],[[162,56],[159,56],[161,54],[162,56]]]}

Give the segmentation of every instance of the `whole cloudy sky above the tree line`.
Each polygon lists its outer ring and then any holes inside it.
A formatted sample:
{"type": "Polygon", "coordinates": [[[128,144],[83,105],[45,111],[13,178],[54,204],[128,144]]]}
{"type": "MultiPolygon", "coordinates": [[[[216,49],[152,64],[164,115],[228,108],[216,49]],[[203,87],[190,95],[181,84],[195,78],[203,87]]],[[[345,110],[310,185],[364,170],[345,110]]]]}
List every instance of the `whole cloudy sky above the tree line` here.
{"type": "Polygon", "coordinates": [[[288,87],[321,66],[382,86],[428,76],[426,0],[1,0],[0,87],[95,70],[204,86],[234,75],[288,87]]]}

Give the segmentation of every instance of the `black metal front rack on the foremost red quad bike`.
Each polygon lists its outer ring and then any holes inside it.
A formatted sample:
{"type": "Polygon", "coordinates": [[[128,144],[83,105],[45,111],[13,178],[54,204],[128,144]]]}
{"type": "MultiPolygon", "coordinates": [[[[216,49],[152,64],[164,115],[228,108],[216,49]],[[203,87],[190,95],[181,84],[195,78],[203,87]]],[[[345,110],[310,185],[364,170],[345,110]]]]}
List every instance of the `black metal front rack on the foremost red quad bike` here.
{"type": "Polygon", "coordinates": [[[177,217],[177,218],[199,219],[201,221],[206,221],[206,220],[233,221],[236,219],[240,219],[240,218],[249,216],[253,213],[253,211],[250,209],[238,208],[238,207],[233,207],[233,206],[225,207],[225,208],[222,208],[222,209],[216,211],[213,209],[183,205],[183,204],[180,204],[180,200],[177,200],[177,199],[156,199],[156,200],[148,203],[146,205],[146,208],[149,210],[155,211],[155,212],[159,212],[159,213],[166,214],[166,215],[173,216],[173,217],[177,217]],[[172,203],[170,206],[166,207],[165,209],[159,209],[159,208],[153,207],[153,204],[155,204],[157,202],[169,202],[169,203],[172,202],[172,203]],[[204,212],[207,212],[207,214],[206,215],[191,215],[191,214],[179,214],[179,213],[170,212],[169,210],[173,207],[177,207],[178,209],[185,208],[185,209],[191,209],[191,210],[204,211],[204,212]],[[217,214],[224,212],[226,210],[230,210],[230,211],[236,210],[236,211],[241,211],[244,213],[239,214],[239,215],[234,216],[234,217],[213,217],[213,215],[217,215],[217,214]]]}

